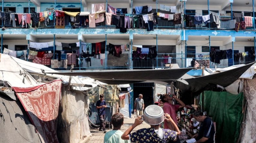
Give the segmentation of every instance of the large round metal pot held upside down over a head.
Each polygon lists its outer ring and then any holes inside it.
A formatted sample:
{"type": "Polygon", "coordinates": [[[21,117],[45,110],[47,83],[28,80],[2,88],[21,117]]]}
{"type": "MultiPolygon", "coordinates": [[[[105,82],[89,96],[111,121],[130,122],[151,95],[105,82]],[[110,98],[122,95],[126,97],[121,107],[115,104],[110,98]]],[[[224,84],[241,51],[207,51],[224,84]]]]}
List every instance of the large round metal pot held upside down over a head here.
{"type": "Polygon", "coordinates": [[[144,110],[144,122],[150,125],[159,125],[164,122],[164,110],[157,105],[150,105],[144,110]]]}

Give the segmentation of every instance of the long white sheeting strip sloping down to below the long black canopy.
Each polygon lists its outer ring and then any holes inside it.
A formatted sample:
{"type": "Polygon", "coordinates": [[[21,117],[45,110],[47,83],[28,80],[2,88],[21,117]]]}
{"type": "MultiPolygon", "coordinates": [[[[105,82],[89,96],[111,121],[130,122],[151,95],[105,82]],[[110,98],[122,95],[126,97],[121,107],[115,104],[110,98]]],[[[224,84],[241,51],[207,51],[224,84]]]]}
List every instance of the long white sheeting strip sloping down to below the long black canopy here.
{"type": "MultiPolygon", "coordinates": [[[[36,73],[38,75],[43,75],[41,69],[43,69],[46,73],[47,72],[58,72],[56,70],[53,70],[51,68],[48,68],[44,65],[28,62],[25,60],[21,60],[18,58],[12,57],[22,68],[26,69],[26,71],[31,73],[36,73]]],[[[67,84],[69,82],[69,76],[67,75],[56,75],[56,74],[46,74],[48,77],[54,77],[54,78],[60,78],[62,79],[62,82],[64,84],[67,84]]],[[[99,81],[95,82],[94,79],[90,77],[78,77],[78,76],[72,76],[71,77],[71,84],[73,85],[74,90],[80,90],[85,91],[91,88],[96,87],[97,85],[105,85],[105,83],[101,83],[99,81]],[[82,87],[84,84],[92,85],[92,87],[82,87]]]]}

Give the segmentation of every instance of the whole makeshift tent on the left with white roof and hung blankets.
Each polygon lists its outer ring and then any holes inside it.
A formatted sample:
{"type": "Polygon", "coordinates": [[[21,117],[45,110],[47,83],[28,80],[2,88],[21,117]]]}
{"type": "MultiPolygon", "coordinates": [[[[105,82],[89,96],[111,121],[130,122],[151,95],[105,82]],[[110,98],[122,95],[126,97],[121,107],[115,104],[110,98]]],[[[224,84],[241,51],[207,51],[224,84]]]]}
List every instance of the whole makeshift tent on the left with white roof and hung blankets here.
{"type": "Polygon", "coordinates": [[[68,90],[69,76],[48,75],[44,71],[57,71],[5,54],[0,57],[4,67],[0,76],[0,142],[81,142],[91,136],[87,119],[90,101],[83,91],[100,82],[72,77],[68,90]]]}

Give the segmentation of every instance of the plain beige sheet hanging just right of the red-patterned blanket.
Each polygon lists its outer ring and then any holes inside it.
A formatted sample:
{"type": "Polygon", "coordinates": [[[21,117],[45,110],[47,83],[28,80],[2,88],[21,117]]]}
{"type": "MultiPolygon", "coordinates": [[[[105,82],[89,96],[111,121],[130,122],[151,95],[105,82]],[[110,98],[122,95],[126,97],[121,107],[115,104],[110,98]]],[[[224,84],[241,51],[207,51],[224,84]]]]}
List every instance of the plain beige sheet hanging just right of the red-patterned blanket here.
{"type": "Polygon", "coordinates": [[[87,118],[89,97],[77,90],[67,90],[62,86],[62,130],[61,140],[64,143],[77,143],[91,136],[87,118]]]}

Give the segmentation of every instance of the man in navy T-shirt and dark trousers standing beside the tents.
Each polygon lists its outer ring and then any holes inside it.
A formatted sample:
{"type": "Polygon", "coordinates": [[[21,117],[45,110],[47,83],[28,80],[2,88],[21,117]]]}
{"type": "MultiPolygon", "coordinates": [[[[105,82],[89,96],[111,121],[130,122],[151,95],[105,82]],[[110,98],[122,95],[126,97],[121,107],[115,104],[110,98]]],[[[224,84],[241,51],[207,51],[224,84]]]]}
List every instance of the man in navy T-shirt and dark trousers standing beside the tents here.
{"type": "Polygon", "coordinates": [[[100,94],[100,100],[97,101],[96,108],[98,109],[98,115],[99,115],[99,118],[100,118],[100,129],[99,129],[99,131],[103,131],[104,133],[106,133],[107,131],[105,129],[104,121],[105,121],[105,115],[106,115],[105,108],[107,106],[106,106],[106,101],[103,100],[103,98],[104,98],[104,95],[100,94]]]}

